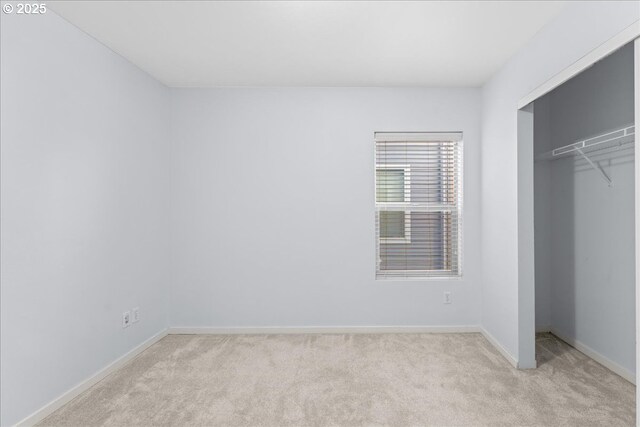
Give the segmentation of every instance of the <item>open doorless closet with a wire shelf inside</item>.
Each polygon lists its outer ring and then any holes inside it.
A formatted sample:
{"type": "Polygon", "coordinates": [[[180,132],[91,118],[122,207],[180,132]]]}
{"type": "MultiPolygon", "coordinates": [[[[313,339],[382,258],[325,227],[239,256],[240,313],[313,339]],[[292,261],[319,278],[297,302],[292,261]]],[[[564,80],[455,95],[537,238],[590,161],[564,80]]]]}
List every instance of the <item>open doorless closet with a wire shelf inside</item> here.
{"type": "Polygon", "coordinates": [[[634,384],[635,78],[631,42],[528,107],[535,363],[585,358],[634,384]]]}

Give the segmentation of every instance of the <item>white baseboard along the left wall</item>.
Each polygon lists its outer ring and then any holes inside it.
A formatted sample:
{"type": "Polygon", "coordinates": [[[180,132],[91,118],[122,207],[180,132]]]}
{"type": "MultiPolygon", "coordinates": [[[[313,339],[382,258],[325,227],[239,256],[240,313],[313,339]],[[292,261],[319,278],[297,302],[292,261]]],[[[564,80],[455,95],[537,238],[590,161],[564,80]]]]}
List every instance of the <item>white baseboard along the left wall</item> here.
{"type": "Polygon", "coordinates": [[[119,357],[118,359],[114,360],[113,362],[111,362],[110,364],[108,364],[107,366],[105,366],[104,368],[102,368],[101,370],[99,370],[89,378],[78,383],[71,390],[68,390],[67,392],[62,394],[60,397],[52,400],[42,408],[35,411],[33,414],[29,415],[28,417],[24,418],[22,421],[18,422],[16,424],[16,427],[33,426],[39,423],[40,421],[42,421],[43,419],[51,415],[53,412],[60,409],[62,406],[66,405],[71,400],[76,398],[82,392],[88,390],[93,385],[103,380],[107,375],[117,371],[127,362],[135,359],[136,356],[138,356],[140,353],[145,351],[147,348],[151,347],[153,344],[160,341],[166,335],[167,335],[167,330],[165,329],[164,331],[159,332],[158,334],[149,338],[148,340],[146,340],[145,342],[143,342],[133,350],[129,351],[128,353],[124,354],[123,356],[119,357]]]}

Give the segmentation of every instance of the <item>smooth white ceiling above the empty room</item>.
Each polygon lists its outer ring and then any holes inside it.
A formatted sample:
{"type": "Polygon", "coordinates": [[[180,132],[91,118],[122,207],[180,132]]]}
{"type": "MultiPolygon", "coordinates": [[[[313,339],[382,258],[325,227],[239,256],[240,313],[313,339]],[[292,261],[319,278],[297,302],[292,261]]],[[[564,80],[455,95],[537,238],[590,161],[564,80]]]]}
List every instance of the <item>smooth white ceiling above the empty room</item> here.
{"type": "Polygon", "coordinates": [[[564,2],[62,1],[169,86],[479,86],[564,2]]]}

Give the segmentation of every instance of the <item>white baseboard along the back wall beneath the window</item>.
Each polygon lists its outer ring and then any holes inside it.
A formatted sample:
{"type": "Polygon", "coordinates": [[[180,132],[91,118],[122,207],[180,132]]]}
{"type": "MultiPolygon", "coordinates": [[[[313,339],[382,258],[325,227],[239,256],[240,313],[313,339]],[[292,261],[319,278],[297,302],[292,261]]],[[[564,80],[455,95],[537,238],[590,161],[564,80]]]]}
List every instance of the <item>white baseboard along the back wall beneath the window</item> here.
{"type": "Polygon", "coordinates": [[[173,327],[169,334],[431,334],[474,333],[479,326],[267,326],[267,327],[173,327]]]}

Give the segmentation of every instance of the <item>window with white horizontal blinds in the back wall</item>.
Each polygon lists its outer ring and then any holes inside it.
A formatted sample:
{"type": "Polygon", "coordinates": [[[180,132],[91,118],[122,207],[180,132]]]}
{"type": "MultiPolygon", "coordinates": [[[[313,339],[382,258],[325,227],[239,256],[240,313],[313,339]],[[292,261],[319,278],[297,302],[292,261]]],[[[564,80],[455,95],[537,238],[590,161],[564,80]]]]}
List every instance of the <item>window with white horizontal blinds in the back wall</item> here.
{"type": "Polygon", "coordinates": [[[375,139],[376,278],[459,277],[462,134],[375,139]]]}

